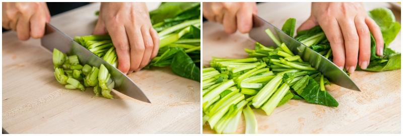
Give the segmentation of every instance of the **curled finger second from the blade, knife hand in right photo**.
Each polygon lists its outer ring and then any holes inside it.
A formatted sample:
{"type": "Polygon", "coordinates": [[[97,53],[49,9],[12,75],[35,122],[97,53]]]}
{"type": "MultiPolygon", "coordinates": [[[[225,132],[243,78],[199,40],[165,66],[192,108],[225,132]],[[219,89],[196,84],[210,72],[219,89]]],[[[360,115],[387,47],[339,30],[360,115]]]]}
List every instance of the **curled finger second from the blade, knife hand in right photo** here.
{"type": "Polygon", "coordinates": [[[224,31],[228,34],[232,34],[236,32],[236,10],[237,8],[229,9],[224,14],[223,25],[224,31]]]}

